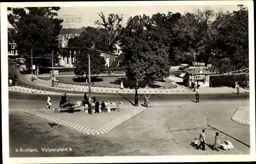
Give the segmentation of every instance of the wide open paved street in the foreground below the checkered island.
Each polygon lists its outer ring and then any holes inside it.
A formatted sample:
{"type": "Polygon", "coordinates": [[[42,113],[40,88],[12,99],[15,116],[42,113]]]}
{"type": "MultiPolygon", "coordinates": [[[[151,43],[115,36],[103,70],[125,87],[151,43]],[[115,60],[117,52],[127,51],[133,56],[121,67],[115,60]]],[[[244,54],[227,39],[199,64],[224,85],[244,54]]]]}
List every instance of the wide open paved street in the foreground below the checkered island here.
{"type": "MultiPolygon", "coordinates": [[[[197,155],[199,151],[200,154],[248,154],[249,148],[242,143],[250,142],[249,125],[241,125],[230,119],[238,106],[248,105],[248,102],[246,100],[218,102],[207,100],[200,104],[180,103],[151,107],[112,131],[97,136],[81,134],[58,126],[50,128],[51,124],[10,107],[10,155],[13,157],[197,155]],[[217,130],[207,124],[223,131],[226,135],[225,140],[232,142],[234,149],[212,151],[210,145],[214,142],[214,134],[217,130]],[[190,145],[202,129],[206,129],[206,141],[209,145],[206,146],[207,151],[195,150],[190,145]],[[16,138],[17,135],[19,138],[16,138]],[[73,151],[51,154],[14,152],[14,149],[19,147],[39,149],[51,145],[54,145],[54,148],[72,147],[73,151]]],[[[21,105],[18,102],[17,104],[21,105]]]]}

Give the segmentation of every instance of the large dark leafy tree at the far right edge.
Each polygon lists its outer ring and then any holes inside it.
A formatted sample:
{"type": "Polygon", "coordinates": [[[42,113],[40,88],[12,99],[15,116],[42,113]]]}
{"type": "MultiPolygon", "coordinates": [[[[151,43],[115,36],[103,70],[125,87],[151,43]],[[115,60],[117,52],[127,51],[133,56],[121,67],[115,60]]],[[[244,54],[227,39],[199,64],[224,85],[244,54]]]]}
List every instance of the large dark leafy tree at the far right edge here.
{"type": "Polygon", "coordinates": [[[220,14],[214,22],[216,54],[225,58],[213,61],[212,71],[227,73],[249,68],[248,9],[220,14]]]}

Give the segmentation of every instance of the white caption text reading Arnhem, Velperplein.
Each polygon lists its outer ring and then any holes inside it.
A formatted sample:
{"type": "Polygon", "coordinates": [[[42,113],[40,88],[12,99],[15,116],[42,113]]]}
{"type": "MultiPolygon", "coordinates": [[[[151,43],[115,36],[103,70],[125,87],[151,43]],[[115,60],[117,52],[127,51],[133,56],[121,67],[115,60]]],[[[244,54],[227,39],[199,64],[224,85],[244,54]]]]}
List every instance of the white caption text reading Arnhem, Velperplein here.
{"type": "Polygon", "coordinates": [[[51,153],[51,152],[67,152],[72,151],[72,148],[49,148],[49,147],[41,147],[38,149],[31,149],[31,148],[19,148],[15,149],[15,152],[17,153],[31,153],[31,152],[44,152],[44,153],[51,153]]]}

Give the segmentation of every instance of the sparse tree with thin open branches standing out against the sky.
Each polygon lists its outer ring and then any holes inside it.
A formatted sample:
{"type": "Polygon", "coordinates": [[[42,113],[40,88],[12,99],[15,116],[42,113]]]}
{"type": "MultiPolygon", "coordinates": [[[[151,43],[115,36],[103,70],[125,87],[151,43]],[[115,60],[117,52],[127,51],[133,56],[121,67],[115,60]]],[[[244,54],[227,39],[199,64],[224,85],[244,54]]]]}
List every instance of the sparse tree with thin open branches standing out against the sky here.
{"type": "Polygon", "coordinates": [[[103,27],[108,32],[109,48],[108,51],[113,53],[115,50],[115,44],[118,42],[119,32],[122,28],[121,21],[123,19],[122,14],[109,14],[106,18],[103,12],[98,13],[100,19],[95,21],[95,24],[99,27],[103,27]]]}

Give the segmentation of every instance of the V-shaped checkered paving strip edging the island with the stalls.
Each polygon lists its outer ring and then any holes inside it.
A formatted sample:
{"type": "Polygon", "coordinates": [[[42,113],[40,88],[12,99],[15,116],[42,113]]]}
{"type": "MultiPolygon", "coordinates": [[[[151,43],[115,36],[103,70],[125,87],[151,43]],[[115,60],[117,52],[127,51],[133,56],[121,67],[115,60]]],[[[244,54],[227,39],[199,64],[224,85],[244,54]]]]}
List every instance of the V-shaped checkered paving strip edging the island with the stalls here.
{"type": "MultiPolygon", "coordinates": [[[[138,115],[139,113],[141,113],[141,112],[143,112],[147,109],[148,108],[146,108],[146,107],[138,107],[135,110],[133,110],[133,111],[127,113],[127,114],[124,114],[123,116],[120,116],[120,117],[116,118],[115,120],[113,120],[111,122],[108,122],[108,123],[104,124],[103,126],[97,128],[97,129],[92,129],[92,128],[89,128],[89,127],[86,127],[86,126],[83,126],[83,125],[80,125],[80,124],[76,124],[76,123],[73,123],[73,122],[70,122],[70,121],[66,121],[66,120],[63,120],[63,119],[59,119],[59,118],[56,118],[56,117],[52,117],[52,116],[40,113],[41,109],[34,109],[34,110],[24,111],[24,113],[26,113],[28,115],[31,115],[31,116],[34,116],[34,117],[37,117],[39,119],[45,120],[45,121],[49,121],[49,122],[53,122],[53,123],[56,123],[56,124],[61,125],[61,126],[65,126],[67,128],[70,128],[72,130],[75,130],[75,131],[78,131],[78,132],[81,132],[81,133],[84,133],[84,134],[94,135],[94,134],[107,133],[107,132],[111,131],[112,129],[114,129],[115,127],[117,127],[118,125],[122,124],[123,122],[131,119],[132,117],[138,115]]],[[[45,110],[49,110],[49,109],[45,109],[45,110]]]]}

